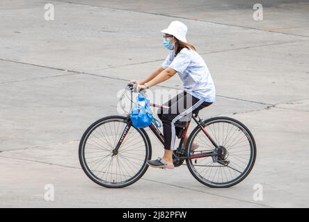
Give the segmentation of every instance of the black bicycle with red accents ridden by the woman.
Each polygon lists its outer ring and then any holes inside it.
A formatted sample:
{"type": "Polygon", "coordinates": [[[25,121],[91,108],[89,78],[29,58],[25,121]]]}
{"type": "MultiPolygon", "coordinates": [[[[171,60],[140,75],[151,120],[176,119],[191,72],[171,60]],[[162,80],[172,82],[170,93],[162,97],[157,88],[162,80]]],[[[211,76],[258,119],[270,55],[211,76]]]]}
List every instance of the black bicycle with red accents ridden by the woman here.
{"type": "MultiPolygon", "coordinates": [[[[122,99],[131,93],[131,110],[134,84],[129,83],[122,99]]],[[[150,103],[152,107],[166,108],[150,103]]],[[[180,144],[173,151],[175,167],[186,165],[196,180],[208,187],[232,187],[244,180],[253,169],[256,158],[255,140],[243,123],[230,117],[200,119],[189,135],[187,146],[182,147],[191,120],[180,130],[180,144]],[[200,146],[191,151],[193,142],[200,146]]],[[[183,124],[183,123],[182,123],[183,124]]],[[[164,144],[164,135],[154,123],[150,130],[164,144]]],[[[152,146],[144,128],[134,128],[127,116],[104,117],[91,124],[79,143],[79,162],[93,182],[103,187],[127,187],[139,180],[148,169],[152,146]]]]}

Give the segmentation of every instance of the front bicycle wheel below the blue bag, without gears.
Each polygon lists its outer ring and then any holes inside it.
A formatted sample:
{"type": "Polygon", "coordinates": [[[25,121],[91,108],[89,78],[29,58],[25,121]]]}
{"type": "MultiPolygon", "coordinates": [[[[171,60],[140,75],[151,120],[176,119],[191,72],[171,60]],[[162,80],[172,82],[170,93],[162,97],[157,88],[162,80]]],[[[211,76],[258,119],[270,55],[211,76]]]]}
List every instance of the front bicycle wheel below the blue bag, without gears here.
{"type": "Polygon", "coordinates": [[[95,121],[81,137],[79,162],[93,182],[109,188],[127,187],[143,176],[151,159],[150,139],[122,116],[95,121]],[[129,125],[128,125],[129,124],[129,125]],[[122,132],[129,126],[118,153],[113,153],[122,132]]]}

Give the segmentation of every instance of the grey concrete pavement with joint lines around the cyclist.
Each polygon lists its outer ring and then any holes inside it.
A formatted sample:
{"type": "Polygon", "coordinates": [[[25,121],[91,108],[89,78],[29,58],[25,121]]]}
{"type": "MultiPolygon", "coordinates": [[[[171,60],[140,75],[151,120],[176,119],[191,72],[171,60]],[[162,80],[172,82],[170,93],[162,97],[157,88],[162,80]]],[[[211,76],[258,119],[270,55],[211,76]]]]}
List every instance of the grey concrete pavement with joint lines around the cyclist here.
{"type": "MultiPolygon", "coordinates": [[[[0,15],[0,207],[309,206],[309,1],[1,0],[0,15]],[[242,121],[258,147],[255,167],[228,189],[205,187],[186,166],[100,187],[81,170],[79,139],[118,113],[128,80],[161,65],[160,31],[173,20],[189,27],[216,85],[200,116],[242,121]]],[[[182,83],[174,76],[154,89],[182,83]]],[[[162,155],[148,134],[152,156],[162,155]]]]}

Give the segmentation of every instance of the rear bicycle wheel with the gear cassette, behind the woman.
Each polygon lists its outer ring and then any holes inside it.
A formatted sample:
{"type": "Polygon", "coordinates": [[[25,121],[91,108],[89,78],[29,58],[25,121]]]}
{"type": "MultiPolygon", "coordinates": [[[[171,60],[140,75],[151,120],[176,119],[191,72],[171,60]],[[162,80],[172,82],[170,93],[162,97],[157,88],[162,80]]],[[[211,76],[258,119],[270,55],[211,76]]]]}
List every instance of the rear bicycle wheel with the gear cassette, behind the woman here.
{"type": "Polygon", "coordinates": [[[237,185],[248,176],[255,163],[256,146],[253,135],[243,123],[230,117],[214,117],[204,123],[204,129],[219,148],[215,148],[197,126],[188,139],[186,155],[209,151],[221,154],[187,160],[189,171],[194,178],[209,187],[237,185]],[[195,151],[191,151],[193,142],[200,145],[195,151]]]}

